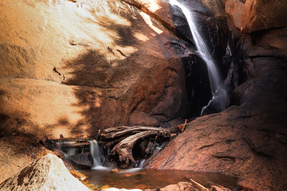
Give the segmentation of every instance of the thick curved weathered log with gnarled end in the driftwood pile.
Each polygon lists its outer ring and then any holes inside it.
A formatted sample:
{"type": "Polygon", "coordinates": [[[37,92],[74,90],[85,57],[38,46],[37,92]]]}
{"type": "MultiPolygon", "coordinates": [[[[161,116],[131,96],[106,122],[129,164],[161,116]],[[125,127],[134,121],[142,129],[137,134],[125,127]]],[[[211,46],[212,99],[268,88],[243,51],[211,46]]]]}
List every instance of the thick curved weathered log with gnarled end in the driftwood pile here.
{"type": "Polygon", "coordinates": [[[131,135],[122,141],[120,141],[110,152],[108,155],[109,158],[115,159],[119,158],[119,162],[125,162],[127,165],[135,164],[135,159],[132,155],[133,146],[141,141],[143,138],[153,137],[158,134],[158,131],[149,130],[137,133],[135,135],[131,135]],[[130,163],[131,162],[131,163],[130,163]]]}

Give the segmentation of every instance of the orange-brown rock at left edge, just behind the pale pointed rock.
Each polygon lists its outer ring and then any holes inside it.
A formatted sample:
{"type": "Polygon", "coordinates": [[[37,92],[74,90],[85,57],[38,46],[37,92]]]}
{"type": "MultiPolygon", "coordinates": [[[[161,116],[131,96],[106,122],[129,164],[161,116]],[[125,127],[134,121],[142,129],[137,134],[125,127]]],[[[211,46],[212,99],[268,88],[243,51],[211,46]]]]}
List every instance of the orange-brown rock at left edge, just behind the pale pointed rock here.
{"type": "Polygon", "coordinates": [[[0,139],[0,183],[38,158],[52,153],[36,142],[23,137],[0,139]]]}

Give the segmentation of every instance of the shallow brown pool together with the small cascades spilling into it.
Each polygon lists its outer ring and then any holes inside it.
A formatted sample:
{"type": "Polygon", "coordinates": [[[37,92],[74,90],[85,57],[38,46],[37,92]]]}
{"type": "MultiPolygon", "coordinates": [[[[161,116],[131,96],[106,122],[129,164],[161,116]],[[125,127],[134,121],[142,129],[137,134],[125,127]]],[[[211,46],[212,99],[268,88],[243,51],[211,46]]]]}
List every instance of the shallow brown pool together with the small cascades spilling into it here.
{"type": "MultiPolygon", "coordinates": [[[[50,140],[51,141],[51,140],[50,140]]],[[[144,164],[152,158],[164,145],[157,145],[152,156],[137,161],[135,168],[118,169],[118,172],[112,172],[115,168],[103,166],[108,152],[103,152],[103,148],[96,141],[89,141],[90,144],[83,147],[67,147],[71,143],[77,141],[51,141],[50,150],[59,149],[65,153],[65,160],[69,161],[69,157],[83,152],[90,152],[94,158],[94,164],[91,170],[77,170],[88,178],[81,180],[88,188],[98,191],[106,188],[125,188],[125,189],[156,189],[164,188],[170,184],[178,184],[179,182],[195,182],[208,187],[210,185],[236,186],[237,178],[232,178],[222,174],[179,171],[179,170],[153,170],[142,168],[144,164]]]]}

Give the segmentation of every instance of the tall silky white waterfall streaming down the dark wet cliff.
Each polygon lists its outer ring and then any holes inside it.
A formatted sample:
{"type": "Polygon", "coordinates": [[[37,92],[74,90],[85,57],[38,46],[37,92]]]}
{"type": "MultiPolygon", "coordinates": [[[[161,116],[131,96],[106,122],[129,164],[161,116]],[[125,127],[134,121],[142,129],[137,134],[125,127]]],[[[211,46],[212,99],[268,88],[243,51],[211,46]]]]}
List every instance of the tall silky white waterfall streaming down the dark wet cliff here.
{"type": "Polygon", "coordinates": [[[181,8],[183,14],[185,15],[187,22],[189,24],[189,28],[191,30],[191,34],[193,36],[193,40],[195,42],[195,45],[197,47],[197,54],[198,56],[206,63],[206,66],[208,68],[208,77],[210,81],[210,89],[212,92],[212,99],[209,101],[208,105],[203,107],[201,110],[201,114],[203,113],[203,110],[210,105],[211,102],[214,102],[214,106],[216,107],[216,110],[219,112],[224,110],[226,108],[226,103],[228,102],[227,92],[220,80],[219,72],[216,68],[216,65],[214,63],[214,60],[210,54],[210,51],[208,50],[208,46],[202,39],[197,26],[195,25],[195,22],[193,21],[193,14],[192,12],[187,9],[184,5],[182,5],[177,0],[169,0],[169,3],[171,5],[177,5],[179,8],[181,8]]]}

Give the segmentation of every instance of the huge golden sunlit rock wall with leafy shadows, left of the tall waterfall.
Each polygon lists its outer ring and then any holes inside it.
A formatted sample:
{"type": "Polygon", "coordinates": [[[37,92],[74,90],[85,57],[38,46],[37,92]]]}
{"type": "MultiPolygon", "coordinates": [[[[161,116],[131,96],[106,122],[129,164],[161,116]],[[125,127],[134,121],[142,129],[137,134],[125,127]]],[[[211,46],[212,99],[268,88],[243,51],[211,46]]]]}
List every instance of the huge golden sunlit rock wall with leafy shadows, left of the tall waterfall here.
{"type": "Polygon", "coordinates": [[[1,137],[75,137],[130,124],[131,112],[155,124],[187,113],[181,58],[190,51],[171,33],[166,2],[141,2],[143,10],[89,0],[0,7],[1,137]],[[163,18],[149,15],[160,11],[163,18]]]}

